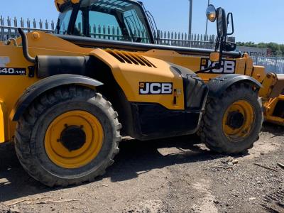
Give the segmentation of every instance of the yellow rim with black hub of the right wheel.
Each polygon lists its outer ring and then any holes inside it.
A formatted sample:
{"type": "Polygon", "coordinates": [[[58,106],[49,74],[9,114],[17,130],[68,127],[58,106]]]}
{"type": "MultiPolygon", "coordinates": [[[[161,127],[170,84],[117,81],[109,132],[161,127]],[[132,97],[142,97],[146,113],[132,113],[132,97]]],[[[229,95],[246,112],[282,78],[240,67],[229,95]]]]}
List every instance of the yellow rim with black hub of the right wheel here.
{"type": "Polygon", "coordinates": [[[224,114],[224,134],[231,141],[242,141],[251,133],[254,120],[254,110],[249,102],[244,100],[234,102],[224,114]]]}

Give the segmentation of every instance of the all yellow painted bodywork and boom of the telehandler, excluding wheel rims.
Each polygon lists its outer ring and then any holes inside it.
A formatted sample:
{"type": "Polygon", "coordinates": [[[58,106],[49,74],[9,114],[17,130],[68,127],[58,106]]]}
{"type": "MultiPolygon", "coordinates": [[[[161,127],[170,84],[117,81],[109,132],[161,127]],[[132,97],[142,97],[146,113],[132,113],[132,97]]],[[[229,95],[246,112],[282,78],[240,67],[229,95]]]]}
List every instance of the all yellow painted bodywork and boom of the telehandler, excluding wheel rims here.
{"type": "MultiPolygon", "coordinates": [[[[58,0],[59,1],[59,0],[58,0]]],[[[62,1],[63,2],[63,1],[62,1]]],[[[109,65],[116,82],[123,89],[129,102],[151,102],[159,103],[163,107],[172,110],[184,109],[184,94],[182,77],[178,72],[170,69],[172,63],[180,65],[194,72],[200,70],[203,61],[201,57],[192,55],[180,55],[170,50],[149,50],[147,52],[126,52],[121,50],[103,50],[93,48],[81,48],[78,45],[62,40],[55,35],[43,32],[28,33],[28,46],[31,56],[36,55],[64,55],[64,56],[84,56],[92,55],[109,65]],[[112,52],[114,53],[112,53],[112,52]],[[113,55],[111,55],[111,53],[113,55]],[[142,66],[135,63],[120,62],[114,55],[127,55],[133,60],[145,60],[153,66],[142,66]],[[142,58],[139,58],[142,57],[142,58]],[[175,94],[145,96],[138,94],[141,82],[173,82],[173,89],[179,91],[175,94]]],[[[17,43],[21,44],[21,38],[17,38],[17,43]]],[[[28,70],[32,64],[28,62],[22,53],[21,46],[0,44],[0,59],[6,61],[5,67],[21,67],[28,70]]],[[[204,60],[204,59],[203,59],[204,60]]],[[[273,86],[278,83],[276,75],[266,75],[264,67],[253,66],[253,60],[248,55],[243,58],[230,59],[236,61],[236,74],[249,75],[258,82],[263,83],[260,96],[263,97],[264,107],[271,106],[270,99],[273,86]]],[[[145,62],[144,61],[144,62],[145,62]]],[[[220,74],[200,73],[204,82],[208,82],[220,74]]],[[[0,78],[0,143],[10,141],[13,138],[16,123],[9,119],[9,115],[17,100],[24,90],[38,82],[35,77],[28,75],[1,75],[0,78]]],[[[143,84],[143,83],[142,83],[143,84]]],[[[283,97],[280,97],[280,99],[283,97]]],[[[269,110],[266,110],[267,116],[269,110]]],[[[274,119],[269,116],[269,119],[274,119]]],[[[282,120],[281,120],[282,122],[282,120]]],[[[279,122],[278,122],[279,123],[279,122]]]]}

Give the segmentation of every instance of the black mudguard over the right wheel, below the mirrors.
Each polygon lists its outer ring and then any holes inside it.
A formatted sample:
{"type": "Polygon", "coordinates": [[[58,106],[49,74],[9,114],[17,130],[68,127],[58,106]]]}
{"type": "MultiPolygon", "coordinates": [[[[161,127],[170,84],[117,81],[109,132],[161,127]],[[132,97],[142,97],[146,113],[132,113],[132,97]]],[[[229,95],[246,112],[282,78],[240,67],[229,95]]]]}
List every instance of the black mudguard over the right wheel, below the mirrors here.
{"type": "Polygon", "coordinates": [[[237,75],[237,74],[220,75],[210,80],[209,83],[207,84],[207,87],[209,87],[208,97],[210,98],[220,97],[222,93],[226,91],[227,88],[231,87],[231,85],[236,84],[238,82],[245,82],[247,84],[251,84],[258,89],[263,87],[260,82],[255,80],[253,77],[247,75],[237,75]]]}

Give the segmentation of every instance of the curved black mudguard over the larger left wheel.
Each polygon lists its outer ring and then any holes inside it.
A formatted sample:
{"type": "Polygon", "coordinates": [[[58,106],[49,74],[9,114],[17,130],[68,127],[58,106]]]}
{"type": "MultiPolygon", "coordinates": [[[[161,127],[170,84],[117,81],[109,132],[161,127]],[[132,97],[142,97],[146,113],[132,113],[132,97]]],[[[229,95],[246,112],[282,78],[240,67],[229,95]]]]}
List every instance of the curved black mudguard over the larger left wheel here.
{"type": "Polygon", "coordinates": [[[18,121],[23,112],[26,111],[27,107],[30,106],[36,97],[39,97],[40,94],[43,94],[50,89],[67,84],[80,84],[94,88],[101,86],[103,83],[82,75],[62,74],[47,77],[36,82],[23,92],[22,96],[18,99],[18,102],[16,102],[11,111],[10,119],[12,121],[18,121]]]}

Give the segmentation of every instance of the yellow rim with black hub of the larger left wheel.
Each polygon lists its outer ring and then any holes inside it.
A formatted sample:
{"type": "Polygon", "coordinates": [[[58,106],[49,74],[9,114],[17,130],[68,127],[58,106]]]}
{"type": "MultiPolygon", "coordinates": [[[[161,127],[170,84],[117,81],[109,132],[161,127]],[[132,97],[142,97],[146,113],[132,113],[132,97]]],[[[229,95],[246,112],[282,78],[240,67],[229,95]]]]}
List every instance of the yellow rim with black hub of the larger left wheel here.
{"type": "Polygon", "coordinates": [[[97,157],[103,141],[102,124],[95,116],[87,111],[68,111],[48,126],[45,133],[45,151],[55,165],[62,168],[80,168],[97,157]],[[76,142],[77,147],[73,144],[75,141],[80,143],[76,142]]]}

